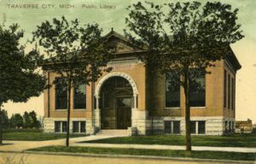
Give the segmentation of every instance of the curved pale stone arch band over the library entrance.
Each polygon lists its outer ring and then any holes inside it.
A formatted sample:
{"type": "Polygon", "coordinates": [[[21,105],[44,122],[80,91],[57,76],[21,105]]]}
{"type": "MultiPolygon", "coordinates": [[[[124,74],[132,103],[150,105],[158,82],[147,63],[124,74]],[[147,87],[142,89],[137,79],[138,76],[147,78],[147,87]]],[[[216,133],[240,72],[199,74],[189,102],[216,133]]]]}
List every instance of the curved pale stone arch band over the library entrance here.
{"type": "Polygon", "coordinates": [[[106,76],[103,76],[102,79],[98,82],[98,84],[96,86],[96,92],[95,92],[96,98],[100,97],[101,88],[102,88],[103,83],[106,82],[110,77],[113,77],[113,76],[124,77],[131,84],[131,88],[132,88],[132,91],[133,91],[133,96],[134,97],[137,96],[137,94],[138,94],[137,84],[136,84],[136,82],[134,82],[133,78],[130,75],[124,73],[124,72],[116,71],[116,72],[111,72],[106,76]]]}

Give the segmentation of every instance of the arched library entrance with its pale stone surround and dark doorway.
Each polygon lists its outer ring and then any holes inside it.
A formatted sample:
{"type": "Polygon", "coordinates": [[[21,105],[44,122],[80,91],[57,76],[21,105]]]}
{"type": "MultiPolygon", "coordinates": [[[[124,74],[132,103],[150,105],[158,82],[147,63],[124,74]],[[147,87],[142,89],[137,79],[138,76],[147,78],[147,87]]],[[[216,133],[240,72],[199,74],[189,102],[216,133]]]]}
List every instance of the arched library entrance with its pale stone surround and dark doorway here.
{"type": "Polygon", "coordinates": [[[127,129],[137,112],[137,84],[123,72],[111,72],[98,82],[95,91],[95,126],[127,129]]]}

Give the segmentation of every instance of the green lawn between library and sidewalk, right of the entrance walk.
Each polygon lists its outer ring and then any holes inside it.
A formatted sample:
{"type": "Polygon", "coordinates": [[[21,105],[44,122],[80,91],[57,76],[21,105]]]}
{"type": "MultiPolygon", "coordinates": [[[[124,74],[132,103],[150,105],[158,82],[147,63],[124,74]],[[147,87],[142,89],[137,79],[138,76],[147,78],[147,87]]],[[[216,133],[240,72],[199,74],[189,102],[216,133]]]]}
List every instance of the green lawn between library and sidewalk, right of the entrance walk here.
{"type": "MultiPolygon", "coordinates": [[[[100,139],[84,141],[87,143],[102,144],[166,144],[185,145],[185,136],[177,135],[153,135],[132,136],[112,139],[100,139]]],[[[235,134],[230,136],[192,136],[194,146],[220,146],[220,147],[256,147],[256,135],[235,134]]]]}

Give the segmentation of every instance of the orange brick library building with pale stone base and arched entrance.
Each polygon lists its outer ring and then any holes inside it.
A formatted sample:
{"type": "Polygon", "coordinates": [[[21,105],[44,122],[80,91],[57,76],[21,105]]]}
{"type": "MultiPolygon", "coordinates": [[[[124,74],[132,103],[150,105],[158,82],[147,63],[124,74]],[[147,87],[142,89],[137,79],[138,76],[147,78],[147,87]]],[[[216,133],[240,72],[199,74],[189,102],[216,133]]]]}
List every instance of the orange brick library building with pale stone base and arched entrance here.
{"type": "MultiPolygon", "coordinates": [[[[183,88],[160,72],[146,69],[125,37],[111,31],[106,36],[117,45],[113,68],[95,82],[95,109],[91,105],[91,85],[78,84],[71,93],[72,133],[95,133],[101,129],[136,129],[139,135],[185,133],[183,88]]],[[[232,51],[230,49],[230,51],[232,51]]],[[[236,71],[241,68],[235,54],[214,63],[211,74],[201,75],[201,93],[192,92],[193,134],[233,133],[236,115],[236,71]]],[[[49,83],[58,75],[45,71],[49,83]]],[[[44,131],[67,132],[67,94],[55,84],[44,91],[44,131]],[[61,104],[62,103],[62,104],[61,104]]]]}

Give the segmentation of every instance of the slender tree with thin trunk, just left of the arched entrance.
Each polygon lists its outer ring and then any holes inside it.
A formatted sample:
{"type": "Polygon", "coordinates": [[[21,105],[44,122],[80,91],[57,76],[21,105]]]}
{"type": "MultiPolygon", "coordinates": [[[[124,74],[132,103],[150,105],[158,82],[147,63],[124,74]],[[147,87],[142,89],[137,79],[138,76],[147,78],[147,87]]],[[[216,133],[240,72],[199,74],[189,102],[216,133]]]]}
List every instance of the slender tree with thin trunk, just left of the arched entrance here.
{"type": "MultiPolygon", "coordinates": [[[[107,42],[102,37],[102,29],[97,24],[79,25],[79,20],[44,21],[33,32],[34,41],[44,48],[49,59],[44,63],[45,70],[55,71],[65,80],[58,81],[57,87],[67,88],[67,141],[69,145],[70,93],[74,82],[96,82],[102,71],[108,71],[111,57],[107,42]]],[[[54,82],[56,84],[56,81],[54,82]]],[[[93,109],[92,109],[93,113],[93,109]]]]}

